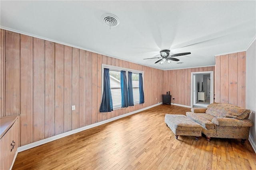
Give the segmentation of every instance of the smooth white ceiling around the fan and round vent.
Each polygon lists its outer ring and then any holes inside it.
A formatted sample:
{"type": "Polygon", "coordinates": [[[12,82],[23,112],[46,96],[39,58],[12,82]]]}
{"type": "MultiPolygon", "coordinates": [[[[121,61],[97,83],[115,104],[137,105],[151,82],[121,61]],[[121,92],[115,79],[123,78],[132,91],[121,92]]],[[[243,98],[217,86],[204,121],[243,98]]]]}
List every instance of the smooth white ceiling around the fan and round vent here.
{"type": "Polygon", "coordinates": [[[212,66],[256,35],[256,1],[0,1],[1,28],[162,70],[212,66]],[[120,24],[111,29],[101,16],[120,24]],[[177,64],[154,64],[161,49],[177,64]]]}

